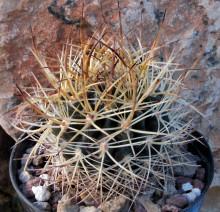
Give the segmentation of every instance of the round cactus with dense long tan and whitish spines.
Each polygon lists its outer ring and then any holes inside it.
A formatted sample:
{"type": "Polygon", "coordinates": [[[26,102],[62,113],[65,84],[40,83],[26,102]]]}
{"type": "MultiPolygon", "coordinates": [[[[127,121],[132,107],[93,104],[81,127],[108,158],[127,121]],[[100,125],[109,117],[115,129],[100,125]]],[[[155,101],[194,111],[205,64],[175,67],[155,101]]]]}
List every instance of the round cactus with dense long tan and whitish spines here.
{"type": "Polygon", "coordinates": [[[58,66],[33,49],[51,86],[34,76],[37,86],[21,92],[43,120],[15,125],[36,141],[29,159],[46,149],[42,173],[54,188],[97,205],[117,195],[134,201],[146,188],[163,190],[177,164],[172,156],[184,157],[179,148],[189,142],[184,116],[196,110],[179,96],[185,72],[175,52],[164,62],[156,56],[167,47],[158,46],[161,30],[147,50],[138,38],[136,49],[107,27],[86,42],[81,30],[81,46],[67,41],[58,66]]]}

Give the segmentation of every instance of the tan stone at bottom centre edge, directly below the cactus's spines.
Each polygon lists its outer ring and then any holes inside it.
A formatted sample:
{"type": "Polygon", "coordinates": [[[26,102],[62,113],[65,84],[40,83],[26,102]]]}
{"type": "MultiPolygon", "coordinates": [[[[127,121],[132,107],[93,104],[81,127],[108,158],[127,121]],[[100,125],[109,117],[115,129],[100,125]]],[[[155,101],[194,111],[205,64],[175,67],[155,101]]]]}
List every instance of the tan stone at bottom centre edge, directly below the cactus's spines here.
{"type": "Polygon", "coordinates": [[[103,212],[125,212],[129,209],[129,200],[123,196],[117,196],[99,206],[103,212]]]}

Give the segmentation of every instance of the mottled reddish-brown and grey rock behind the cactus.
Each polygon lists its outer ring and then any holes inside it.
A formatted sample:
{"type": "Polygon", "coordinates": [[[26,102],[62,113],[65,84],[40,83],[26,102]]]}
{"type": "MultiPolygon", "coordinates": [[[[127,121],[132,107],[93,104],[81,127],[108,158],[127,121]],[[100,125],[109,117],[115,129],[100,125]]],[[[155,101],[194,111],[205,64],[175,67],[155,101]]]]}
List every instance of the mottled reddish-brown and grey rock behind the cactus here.
{"type": "MultiPolygon", "coordinates": [[[[31,72],[44,82],[36,60],[28,48],[31,44],[31,27],[35,42],[40,51],[46,55],[56,55],[57,49],[65,43],[69,32],[79,43],[79,17],[81,14],[79,0],[2,0],[0,2],[0,124],[14,139],[20,132],[10,125],[10,118],[16,113],[11,109],[19,104],[21,96],[16,89],[33,83],[31,72]],[[30,27],[31,26],[31,27],[30,27]]],[[[85,29],[91,35],[95,26],[102,21],[100,1],[85,1],[85,29]]],[[[117,1],[102,0],[103,14],[117,28],[117,1]]],[[[189,68],[198,57],[205,41],[205,51],[197,69],[189,72],[188,90],[182,95],[197,106],[204,105],[200,111],[207,119],[198,114],[195,128],[210,140],[215,155],[216,175],[213,185],[220,184],[220,2],[214,0],[192,1],[153,1],[121,0],[122,22],[124,32],[134,29],[138,34],[143,15],[142,42],[150,47],[158,31],[164,11],[166,21],[161,39],[164,42],[181,39],[179,48],[184,48],[182,63],[189,68]]],[[[135,37],[135,32],[130,35],[135,37]]],[[[163,58],[161,58],[163,59],[163,58]]],[[[26,111],[28,114],[29,111],[26,111]]],[[[189,117],[189,118],[191,118],[189,117]]]]}

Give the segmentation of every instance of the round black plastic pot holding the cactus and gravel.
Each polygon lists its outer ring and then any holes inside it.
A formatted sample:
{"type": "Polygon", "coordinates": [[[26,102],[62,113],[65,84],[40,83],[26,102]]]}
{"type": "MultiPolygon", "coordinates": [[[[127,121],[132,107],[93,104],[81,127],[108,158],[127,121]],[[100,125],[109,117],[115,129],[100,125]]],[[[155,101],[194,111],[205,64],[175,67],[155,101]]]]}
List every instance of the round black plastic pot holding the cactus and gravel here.
{"type": "MultiPolygon", "coordinates": [[[[25,138],[27,134],[21,135],[19,140],[25,138]]],[[[187,208],[183,209],[182,212],[198,212],[202,206],[207,190],[209,189],[213,174],[214,174],[214,160],[211,149],[207,143],[207,141],[202,137],[202,135],[195,131],[192,133],[192,136],[199,138],[200,142],[194,140],[192,143],[188,144],[188,151],[192,152],[192,154],[198,155],[202,159],[203,167],[206,169],[205,175],[205,188],[203,189],[201,195],[187,208]]],[[[10,164],[9,164],[9,173],[11,182],[19,196],[22,207],[25,212],[40,212],[41,210],[34,207],[34,205],[22,194],[19,186],[20,181],[18,179],[17,170],[20,169],[21,163],[20,160],[14,160],[16,158],[21,158],[25,150],[34,145],[34,142],[25,139],[20,144],[16,145],[11,153],[10,164]]],[[[42,211],[41,211],[42,212],[42,211]]]]}

